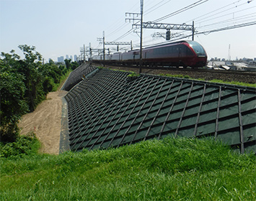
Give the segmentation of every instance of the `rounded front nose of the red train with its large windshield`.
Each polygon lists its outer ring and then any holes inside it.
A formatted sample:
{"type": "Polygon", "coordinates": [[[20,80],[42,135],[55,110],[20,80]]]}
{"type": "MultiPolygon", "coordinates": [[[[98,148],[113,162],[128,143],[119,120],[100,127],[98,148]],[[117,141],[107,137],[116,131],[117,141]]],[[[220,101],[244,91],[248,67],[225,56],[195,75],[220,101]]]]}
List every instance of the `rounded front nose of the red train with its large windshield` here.
{"type": "Polygon", "coordinates": [[[193,52],[193,57],[187,55],[187,66],[204,67],[207,65],[206,50],[202,45],[195,41],[186,41],[185,45],[193,52]]]}

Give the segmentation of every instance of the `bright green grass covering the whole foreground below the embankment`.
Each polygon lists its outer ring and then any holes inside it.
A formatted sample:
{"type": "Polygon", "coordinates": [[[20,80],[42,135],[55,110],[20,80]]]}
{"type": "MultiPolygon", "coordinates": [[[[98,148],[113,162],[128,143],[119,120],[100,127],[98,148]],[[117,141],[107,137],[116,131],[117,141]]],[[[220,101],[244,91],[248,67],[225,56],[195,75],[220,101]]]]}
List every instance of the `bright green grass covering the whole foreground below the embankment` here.
{"type": "Polygon", "coordinates": [[[0,200],[256,200],[254,154],[164,139],[0,159],[0,200]]]}

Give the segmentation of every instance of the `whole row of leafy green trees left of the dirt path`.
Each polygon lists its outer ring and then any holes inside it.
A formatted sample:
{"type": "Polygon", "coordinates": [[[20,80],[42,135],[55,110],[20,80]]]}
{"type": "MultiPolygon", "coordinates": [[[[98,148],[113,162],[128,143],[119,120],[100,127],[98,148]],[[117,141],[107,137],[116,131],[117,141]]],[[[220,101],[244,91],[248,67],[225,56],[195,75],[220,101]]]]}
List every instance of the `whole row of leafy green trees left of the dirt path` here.
{"type": "Polygon", "coordinates": [[[53,60],[43,64],[43,57],[35,46],[19,45],[24,59],[11,50],[1,52],[0,59],[0,141],[12,142],[19,135],[17,126],[25,113],[32,112],[46,95],[60,83],[61,77],[79,66],[65,60],[56,65],[53,60]]]}

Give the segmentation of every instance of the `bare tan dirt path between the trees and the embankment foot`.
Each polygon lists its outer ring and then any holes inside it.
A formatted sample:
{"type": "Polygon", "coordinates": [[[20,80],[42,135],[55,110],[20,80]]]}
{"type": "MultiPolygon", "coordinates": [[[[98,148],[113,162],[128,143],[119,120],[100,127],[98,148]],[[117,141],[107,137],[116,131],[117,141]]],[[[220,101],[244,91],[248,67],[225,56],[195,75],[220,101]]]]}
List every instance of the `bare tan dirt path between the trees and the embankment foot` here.
{"type": "Polygon", "coordinates": [[[66,91],[58,90],[48,93],[45,101],[32,113],[22,116],[19,128],[21,134],[33,131],[42,144],[40,152],[47,154],[58,154],[61,134],[61,98],[66,91]]]}

